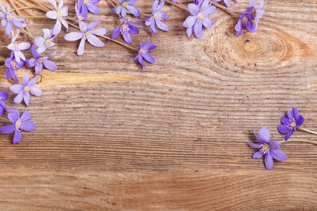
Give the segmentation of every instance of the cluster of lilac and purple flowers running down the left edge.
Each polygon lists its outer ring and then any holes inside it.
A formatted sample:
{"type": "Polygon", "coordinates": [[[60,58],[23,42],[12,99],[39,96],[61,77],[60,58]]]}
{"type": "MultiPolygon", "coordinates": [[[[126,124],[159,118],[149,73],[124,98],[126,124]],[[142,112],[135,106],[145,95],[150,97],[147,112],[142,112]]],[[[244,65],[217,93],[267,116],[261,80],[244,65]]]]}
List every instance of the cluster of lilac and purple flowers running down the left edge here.
{"type": "MultiPolygon", "coordinates": [[[[25,30],[24,28],[27,26],[25,23],[25,18],[17,17],[14,12],[11,11],[9,4],[7,4],[7,8],[5,8],[0,3],[0,18],[2,18],[1,23],[3,27],[6,28],[5,35],[6,37],[12,36],[11,43],[8,45],[8,49],[11,50],[10,58],[7,58],[5,61],[5,65],[8,67],[6,78],[9,80],[11,77],[14,81],[19,82],[16,71],[22,68],[24,64],[28,67],[35,66],[35,76],[30,79],[30,75],[24,73],[22,84],[15,84],[10,87],[10,91],[17,96],[14,98],[15,103],[25,102],[26,106],[29,105],[30,95],[33,96],[41,96],[42,90],[34,87],[39,76],[37,75],[42,71],[43,66],[48,70],[55,71],[57,66],[49,60],[50,56],[56,54],[56,51],[50,55],[40,56],[46,50],[51,49],[56,44],[53,42],[53,39],[56,35],[61,31],[61,24],[63,24],[66,28],[68,28],[67,22],[65,22],[64,17],[67,16],[67,7],[63,7],[63,1],[61,0],[58,7],[56,6],[55,0],[48,0],[56,9],[56,11],[50,11],[47,13],[47,17],[56,19],[56,24],[53,29],[43,29],[44,36],[33,37],[34,44],[31,45],[27,42],[17,41],[17,37],[20,33],[20,30],[25,30]],[[13,30],[13,27],[17,27],[16,33],[13,30]],[[31,52],[33,58],[26,59],[22,51],[28,50],[31,48],[31,52]]],[[[36,125],[34,122],[29,121],[31,115],[24,111],[22,116],[20,117],[20,113],[18,110],[9,108],[3,101],[8,98],[8,93],[1,91],[0,92],[0,115],[4,113],[4,111],[8,111],[8,119],[12,122],[11,125],[3,126],[0,128],[0,132],[4,134],[10,134],[14,132],[13,143],[19,143],[22,139],[22,135],[20,131],[33,131],[36,129],[36,125]]]]}

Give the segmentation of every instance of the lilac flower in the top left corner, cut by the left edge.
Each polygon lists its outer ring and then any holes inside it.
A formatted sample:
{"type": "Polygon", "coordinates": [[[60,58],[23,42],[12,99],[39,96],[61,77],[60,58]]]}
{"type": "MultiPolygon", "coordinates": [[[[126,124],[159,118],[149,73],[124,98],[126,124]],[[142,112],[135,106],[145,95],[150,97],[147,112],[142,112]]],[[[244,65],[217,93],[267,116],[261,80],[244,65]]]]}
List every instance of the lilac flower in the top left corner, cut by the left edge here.
{"type": "Polygon", "coordinates": [[[12,24],[19,27],[19,28],[25,28],[26,24],[22,23],[25,21],[25,18],[19,18],[16,17],[14,12],[10,12],[10,6],[7,3],[7,9],[0,3],[0,8],[3,12],[0,11],[0,18],[3,18],[1,20],[1,23],[3,27],[6,28],[5,35],[6,37],[9,37],[12,32],[12,24]]]}

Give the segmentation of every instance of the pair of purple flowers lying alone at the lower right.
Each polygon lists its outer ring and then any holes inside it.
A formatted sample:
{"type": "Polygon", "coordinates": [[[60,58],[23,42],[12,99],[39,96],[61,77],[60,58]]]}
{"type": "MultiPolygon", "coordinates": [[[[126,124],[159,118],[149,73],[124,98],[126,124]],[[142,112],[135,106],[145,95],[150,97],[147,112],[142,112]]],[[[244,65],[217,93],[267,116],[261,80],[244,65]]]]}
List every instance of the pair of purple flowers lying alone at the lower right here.
{"type": "MultiPolygon", "coordinates": [[[[292,111],[288,111],[287,116],[283,116],[281,120],[283,124],[279,126],[279,132],[286,134],[285,141],[287,141],[293,132],[304,123],[304,117],[299,115],[296,107],[293,107],[292,111]]],[[[279,150],[281,142],[270,141],[270,132],[265,126],[260,129],[259,136],[255,134],[254,130],[254,136],[260,144],[248,142],[251,147],[259,149],[258,152],[252,155],[252,158],[259,159],[265,155],[264,163],[267,170],[272,169],[273,158],[279,161],[287,160],[286,154],[279,150]]]]}

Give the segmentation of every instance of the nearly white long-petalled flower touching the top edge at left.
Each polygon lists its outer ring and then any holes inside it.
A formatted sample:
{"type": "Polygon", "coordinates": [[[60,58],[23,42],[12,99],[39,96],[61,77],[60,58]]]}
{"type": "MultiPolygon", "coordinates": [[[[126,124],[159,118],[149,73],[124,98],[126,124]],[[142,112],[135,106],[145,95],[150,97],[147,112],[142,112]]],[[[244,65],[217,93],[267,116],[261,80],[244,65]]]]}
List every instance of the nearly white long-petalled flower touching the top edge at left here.
{"type": "Polygon", "coordinates": [[[58,7],[56,5],[56,1],[55,0],[47,0],[49,3],[51,3],[55,10],[49,11],[46,13],[46,17],[51,18],[51,19],[56,19],[56,24],[53,27],[52,30],[52,34],[53,35],[57,35],[61,29],[62,29],[62,25],[63,24],[66,27],[66,32],[68,32],[68,23],[65,21],[66,16],[68,16],[68,7],[64,5],[63,0],[59,1],[58,7]]]}

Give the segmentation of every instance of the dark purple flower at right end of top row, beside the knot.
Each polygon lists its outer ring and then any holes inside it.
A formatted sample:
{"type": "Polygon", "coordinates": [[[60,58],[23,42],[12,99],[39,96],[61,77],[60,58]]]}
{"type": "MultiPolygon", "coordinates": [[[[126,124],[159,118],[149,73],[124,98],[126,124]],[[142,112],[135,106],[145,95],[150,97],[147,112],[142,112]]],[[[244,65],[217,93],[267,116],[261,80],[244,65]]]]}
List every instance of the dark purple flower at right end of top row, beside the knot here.
{"type": "Polygon", "coordinates": [[[240,14],[239,21],[236,23],[234,29],[236,30],[236,35],[240,36],[242,33],[242,26],[244,25],[246,29],[250,32],[256,32],[256,28],[252,22],[254,18],[253,14],[250,12],[253,10],[253,7],[249,7],[246,11],[240,14]]]}

